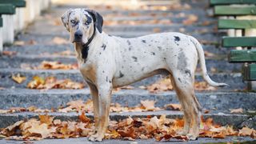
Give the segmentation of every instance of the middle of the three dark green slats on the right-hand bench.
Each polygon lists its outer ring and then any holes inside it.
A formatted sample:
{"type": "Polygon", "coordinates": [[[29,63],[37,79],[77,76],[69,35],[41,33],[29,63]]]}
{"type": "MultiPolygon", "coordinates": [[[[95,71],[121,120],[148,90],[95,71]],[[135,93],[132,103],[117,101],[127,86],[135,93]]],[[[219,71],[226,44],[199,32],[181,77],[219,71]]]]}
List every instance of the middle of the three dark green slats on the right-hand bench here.
{"type": "Polygon", "coordinates": [[[230,50],[229,62],[256,62],[256,50],[230,50]]]}

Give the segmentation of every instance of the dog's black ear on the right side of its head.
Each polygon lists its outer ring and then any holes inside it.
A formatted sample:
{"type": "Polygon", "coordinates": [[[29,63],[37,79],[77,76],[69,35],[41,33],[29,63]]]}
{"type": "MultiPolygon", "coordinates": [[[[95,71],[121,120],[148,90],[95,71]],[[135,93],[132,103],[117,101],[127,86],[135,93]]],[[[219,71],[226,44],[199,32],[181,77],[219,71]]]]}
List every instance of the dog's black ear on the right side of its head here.
{"type": "Polygon", "coordinates": [[[95,24],[96,28],[98,29],[98,31],[100,33],[102,33],[102,26],[103,26],[102,15],[98,14],[98,12],[96,12],[94,10],[86,9],[86,11],[94,18],[94,24],[95,24]]]}

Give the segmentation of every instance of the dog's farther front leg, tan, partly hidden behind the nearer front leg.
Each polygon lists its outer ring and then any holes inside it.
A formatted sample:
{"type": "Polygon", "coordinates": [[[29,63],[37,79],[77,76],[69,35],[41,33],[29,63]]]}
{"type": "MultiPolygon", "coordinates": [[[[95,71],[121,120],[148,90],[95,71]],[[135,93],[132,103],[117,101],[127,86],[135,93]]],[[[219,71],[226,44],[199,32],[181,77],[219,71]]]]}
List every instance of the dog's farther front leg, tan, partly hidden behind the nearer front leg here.
{"type": "Polygon", "coordinates": [[[94,123],[95,123],[94,133],[97,133],[98,117],[99,117],[98,89],[96,86],[94,86],[90,82],[87,82],[87,83],[88,83],[88,86],[90,87],[90,94],[94,103],[94,123]]]}

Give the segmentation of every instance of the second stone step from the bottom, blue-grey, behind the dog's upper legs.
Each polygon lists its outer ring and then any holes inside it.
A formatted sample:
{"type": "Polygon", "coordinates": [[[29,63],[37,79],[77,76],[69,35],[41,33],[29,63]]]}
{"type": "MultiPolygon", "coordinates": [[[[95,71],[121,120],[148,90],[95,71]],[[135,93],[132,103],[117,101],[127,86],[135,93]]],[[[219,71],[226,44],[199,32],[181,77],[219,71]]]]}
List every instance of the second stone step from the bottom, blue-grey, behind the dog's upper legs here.
{"type": "MultiPolygon", "coordinates": [[[[42,109],[66,106],[67,102],[91,98],[88,88],[83,90],[29,90],[5,89],[0,90],[0,109],[10,107],[37,106],[42,109]]],[[[206,110],[221,110],[229,112],[230,109],[242,108],[256,110],[256,94],[234,91],[197,91],[196,96],[202,108],[206,110]]],[[[122,106],[138,106],[142,100],[154,100],[155,106],[163,107],[166,104],[178,103],[174,91],[150,93],[148,90],[119,90],[114,92],[111,102],[118,102],[122,106]]]]}

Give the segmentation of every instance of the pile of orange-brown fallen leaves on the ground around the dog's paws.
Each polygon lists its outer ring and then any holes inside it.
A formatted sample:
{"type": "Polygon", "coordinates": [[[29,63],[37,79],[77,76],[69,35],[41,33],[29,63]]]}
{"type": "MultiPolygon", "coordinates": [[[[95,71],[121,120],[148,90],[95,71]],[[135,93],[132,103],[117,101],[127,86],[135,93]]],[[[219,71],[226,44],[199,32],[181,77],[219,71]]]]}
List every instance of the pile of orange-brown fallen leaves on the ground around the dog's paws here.
{"type": "MultiPolygon", "coordinates": [[[[110,121],[105,138],[134,140],[136,138],[155,138],[157,141],[177,138],[186,141],[186,136],[178,135],[182,130],[182,119],[160,118],[126,118],[119,122],[110,121]]],[[[49,115],[39,115],[39,120],[31,118],[27,121],[18,121],[14,125],[2,129],[0,134],[6,139],[40,140],[43,138],[78,138],[92,134],[94,123],[85,113],[78,116],[78,122],[61,121],[49,115]]],[[[250,136],[256,138],[256,131],[248,127],[234,130],[232,126],[214,125],[213,119],[202,121],[200,137],[226,138],[226,136],[250,136]]]]}

